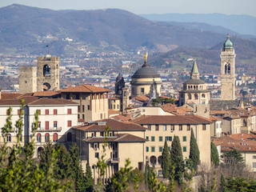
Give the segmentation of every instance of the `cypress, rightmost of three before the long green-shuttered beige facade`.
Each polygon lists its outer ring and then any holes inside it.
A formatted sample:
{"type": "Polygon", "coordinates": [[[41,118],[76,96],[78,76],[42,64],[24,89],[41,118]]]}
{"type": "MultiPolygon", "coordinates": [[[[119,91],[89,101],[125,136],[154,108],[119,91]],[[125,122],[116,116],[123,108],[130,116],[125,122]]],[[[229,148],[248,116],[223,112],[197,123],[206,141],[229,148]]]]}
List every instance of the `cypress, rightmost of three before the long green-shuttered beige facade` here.
{"type": "Polygon", "coordinates": [[[190,134],[190,159],[192,160],[194,170],[197,170],[200,163],[200,151],[197,140],[194,138],[193,129],[190,134]]]}

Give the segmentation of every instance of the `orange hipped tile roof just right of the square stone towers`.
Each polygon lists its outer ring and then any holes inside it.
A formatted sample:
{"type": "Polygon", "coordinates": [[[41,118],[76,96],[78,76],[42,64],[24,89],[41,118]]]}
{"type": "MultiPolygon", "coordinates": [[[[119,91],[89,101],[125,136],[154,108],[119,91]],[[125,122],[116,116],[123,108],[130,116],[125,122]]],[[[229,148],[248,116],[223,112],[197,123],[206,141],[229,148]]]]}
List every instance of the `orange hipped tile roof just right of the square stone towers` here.
{"type": "Polygon", "coordinates": [[[98,86],[81,85],[81,86],[70,86],[65,90],[59,90],[59,91],[60,92],[101,93],[101,92],[110,92],[112,90],[108,90],[98,86]]]}

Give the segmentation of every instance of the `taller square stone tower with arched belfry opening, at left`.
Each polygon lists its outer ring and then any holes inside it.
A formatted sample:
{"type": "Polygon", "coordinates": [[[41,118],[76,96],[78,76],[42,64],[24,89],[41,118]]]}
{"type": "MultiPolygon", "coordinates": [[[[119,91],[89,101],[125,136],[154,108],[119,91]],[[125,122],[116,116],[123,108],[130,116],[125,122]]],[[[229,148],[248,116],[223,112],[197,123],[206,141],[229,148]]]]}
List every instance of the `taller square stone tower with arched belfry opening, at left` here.
{"type": "Polygon", "coordinates": [[[59,90],[59,57],[38,57],[38,91],[59,90]]]}

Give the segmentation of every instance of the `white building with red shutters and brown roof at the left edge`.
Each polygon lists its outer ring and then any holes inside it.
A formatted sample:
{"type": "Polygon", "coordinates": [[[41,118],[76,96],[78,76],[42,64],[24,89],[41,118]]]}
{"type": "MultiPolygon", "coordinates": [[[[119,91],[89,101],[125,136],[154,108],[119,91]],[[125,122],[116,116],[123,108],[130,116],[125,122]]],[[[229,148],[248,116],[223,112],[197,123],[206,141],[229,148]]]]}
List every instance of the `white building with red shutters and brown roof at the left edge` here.
{"type": "MultiPolygon", "coordinates": [[[[6,111],[12,108],[12,125],[14,126],[18,120],[18,115],[21,113],[21,99],[24,99],[24,116],[22,130],[22,146],[26,142],[30,142],[33,123],[35,122],[34,114],[38,111],[38,130],[35,131],[35,154],[42,150],[46,142],[62,142],[68,144],[74,141],[74,130],[72,126],[78,125],[78,104],[60,98],[37,98],[37,97],[22,97],[14,99],[0,99],[0,127],[6,123],[6,111]]],[[[0,130],[1,132],[2,130],[0,130]]],[[[11,130],[7,135],[7,146],[13,147],[16,143],[16,130],[11,130]]],[[[0,144],[3,142],[2,134],[0,136],[0,144]]]]}

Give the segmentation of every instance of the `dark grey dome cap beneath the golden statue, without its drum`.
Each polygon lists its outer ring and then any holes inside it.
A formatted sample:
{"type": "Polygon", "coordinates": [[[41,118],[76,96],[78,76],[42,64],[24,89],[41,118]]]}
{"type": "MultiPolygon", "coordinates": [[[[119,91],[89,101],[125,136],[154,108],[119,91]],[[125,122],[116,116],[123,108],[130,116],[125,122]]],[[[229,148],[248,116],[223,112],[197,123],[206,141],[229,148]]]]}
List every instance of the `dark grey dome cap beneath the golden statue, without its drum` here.
{"type": "Polygon", "coordinates": [[[160,75],[144,62],[142,68],[138,69],[131,78],[160,78],[160,75]]]}

